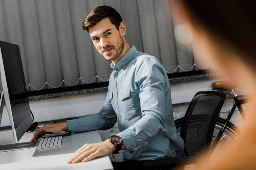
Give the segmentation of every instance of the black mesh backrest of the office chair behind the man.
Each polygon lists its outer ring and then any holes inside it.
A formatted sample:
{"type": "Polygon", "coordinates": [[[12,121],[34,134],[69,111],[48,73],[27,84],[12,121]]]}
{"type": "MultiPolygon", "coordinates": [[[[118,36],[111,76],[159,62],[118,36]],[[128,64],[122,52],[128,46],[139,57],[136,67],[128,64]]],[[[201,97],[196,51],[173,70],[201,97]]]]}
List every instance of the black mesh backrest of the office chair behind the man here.
{"type": "Polygon", "coordinates": [[[225,98],[226,95],[218,91],[201,91],[195,94],[180,131],[180,136],[185,142],[185,156],[202,156],[210,147],[225,98]]]}

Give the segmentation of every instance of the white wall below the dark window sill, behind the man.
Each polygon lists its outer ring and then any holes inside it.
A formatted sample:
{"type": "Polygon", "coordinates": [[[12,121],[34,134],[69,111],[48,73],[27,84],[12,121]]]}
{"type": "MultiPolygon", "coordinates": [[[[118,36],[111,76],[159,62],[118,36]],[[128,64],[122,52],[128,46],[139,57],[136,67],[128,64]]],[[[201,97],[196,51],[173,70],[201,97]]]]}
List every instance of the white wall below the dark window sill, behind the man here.
{"type": "MultiPolygon", "coordinates": [[[[172,104],[190,102],[198,91],[210,91],[211,83],[214,81],[216,80],[198,80],[172,84],[172,104]]],[[[105,97],[106,93],[97,93],[39,100],[30,102],[30,108],[35,116],[34,122],[67,119],[99,113],[105,97]]],[[[4,126],[10,126],[6,108],[3,111],[0,127],[4,126]]]]}

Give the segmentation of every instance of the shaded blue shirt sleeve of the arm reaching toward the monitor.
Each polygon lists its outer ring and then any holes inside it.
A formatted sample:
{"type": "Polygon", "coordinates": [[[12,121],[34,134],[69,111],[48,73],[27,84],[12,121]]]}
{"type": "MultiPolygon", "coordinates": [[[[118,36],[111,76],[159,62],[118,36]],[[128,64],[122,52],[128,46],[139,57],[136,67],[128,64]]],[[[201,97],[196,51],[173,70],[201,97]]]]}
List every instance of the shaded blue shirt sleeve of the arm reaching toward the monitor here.
{"type": "Polygon", "coordinates": [[[79,119],[67,120],[67,127],[70,132],[86,132],[92,130],[107,130],[113,127],[117,121],[116,113],[111,105],[108,91],[105,103],[97,114],[84,116],[79,119]]]}

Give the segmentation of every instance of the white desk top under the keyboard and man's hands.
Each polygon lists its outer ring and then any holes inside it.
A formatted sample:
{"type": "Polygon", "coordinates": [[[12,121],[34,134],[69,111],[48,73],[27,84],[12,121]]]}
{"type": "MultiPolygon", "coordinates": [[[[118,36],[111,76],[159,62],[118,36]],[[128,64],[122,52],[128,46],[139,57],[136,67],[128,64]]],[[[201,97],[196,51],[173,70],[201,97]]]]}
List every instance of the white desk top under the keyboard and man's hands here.
{"type": "MultiPolygon", "coordinates": [[[[0,132],[0,144],[4,144],[6,136],[12,130],[0,132]]],[[[27,142],[33,133],[25,133],[19,142],[27,142]]],[[[0,170],[113,170],[108,156],[88,162],[67,164],[73,153],[85,143],[102,142],[98,131],[73,133],[64,136],[61,147],[36,150],[36,147],[26,150],[16,150],[0,153],[0,170]]]]}

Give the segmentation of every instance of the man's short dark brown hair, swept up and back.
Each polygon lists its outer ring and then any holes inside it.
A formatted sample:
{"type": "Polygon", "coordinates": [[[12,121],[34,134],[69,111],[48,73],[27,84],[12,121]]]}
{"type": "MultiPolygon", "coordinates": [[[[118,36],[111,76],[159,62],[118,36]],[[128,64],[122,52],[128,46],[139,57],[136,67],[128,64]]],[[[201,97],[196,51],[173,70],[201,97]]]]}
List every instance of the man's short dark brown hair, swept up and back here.
{"type": "Polygon", "coordinates": [[[84,18],[83,30],[87,30],[89,26],[95,26],[101,20],[109,18],[111,23],[116,26],[119,30],[120,23],[122,22],[121,15],[111,6],[98,6],[94,8],[90,13],[84,18]]]}

